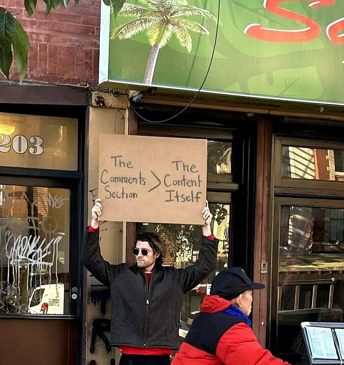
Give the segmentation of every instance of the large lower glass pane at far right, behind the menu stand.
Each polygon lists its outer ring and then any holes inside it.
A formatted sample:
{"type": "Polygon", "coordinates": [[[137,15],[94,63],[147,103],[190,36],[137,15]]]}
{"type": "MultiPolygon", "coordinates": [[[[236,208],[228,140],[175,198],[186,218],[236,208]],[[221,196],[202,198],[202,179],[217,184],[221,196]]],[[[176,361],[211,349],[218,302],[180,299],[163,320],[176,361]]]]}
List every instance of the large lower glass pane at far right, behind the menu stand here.
{"type": "Polygon", "coordinates": [[[279,354],[305,353],[301,322],[343,322],[342,217],[338,208],[281,206],[279,354]]]}

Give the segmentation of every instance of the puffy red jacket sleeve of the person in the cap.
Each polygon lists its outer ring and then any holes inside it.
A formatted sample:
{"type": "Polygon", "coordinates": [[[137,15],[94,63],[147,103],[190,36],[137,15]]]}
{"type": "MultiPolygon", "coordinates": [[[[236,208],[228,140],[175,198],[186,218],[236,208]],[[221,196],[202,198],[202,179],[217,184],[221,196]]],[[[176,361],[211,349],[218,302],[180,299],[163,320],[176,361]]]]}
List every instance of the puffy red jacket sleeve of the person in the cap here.
{"type": "Polygon", "coordinates": [[[225,365],[290,365],[265,350],[246,323],[231,327],[220,338],[216,357],[225,365]]]}

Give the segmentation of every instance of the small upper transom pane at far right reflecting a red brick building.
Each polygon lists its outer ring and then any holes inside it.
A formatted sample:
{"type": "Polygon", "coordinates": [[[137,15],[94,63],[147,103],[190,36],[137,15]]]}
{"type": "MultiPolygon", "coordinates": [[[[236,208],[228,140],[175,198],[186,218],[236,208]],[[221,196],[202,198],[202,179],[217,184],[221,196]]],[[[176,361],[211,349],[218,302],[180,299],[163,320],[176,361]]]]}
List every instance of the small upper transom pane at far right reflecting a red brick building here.
{"type": "Polygon", "coordinates": [[[344,181],[344,150],[283,146],[282,177],[344,181]]]}

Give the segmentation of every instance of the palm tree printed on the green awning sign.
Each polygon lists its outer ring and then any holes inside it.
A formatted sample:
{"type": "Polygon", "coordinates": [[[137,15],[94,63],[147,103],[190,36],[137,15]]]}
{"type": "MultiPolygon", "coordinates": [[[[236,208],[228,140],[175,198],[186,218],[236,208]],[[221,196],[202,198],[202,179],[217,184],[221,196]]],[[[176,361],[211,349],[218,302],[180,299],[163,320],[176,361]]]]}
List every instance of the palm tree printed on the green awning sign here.
{"type": "Polygon", "coordinates": [[[175,34],[180,45],[185,47],[188,53],[192,50],[192,38],[189,30],[209,35],[208,29],[200,23],[190,19],[183,19],[188,16],[201,16],[202,18],[216,21],[209,11],[191,6],[186,0],[140,0],[146,7],[125,3],[118,13],[121,16],[137,17],[115,28],[111,34],[111,39],[131,38],[134,34],[146,31],[149,44],[152,46],[143,83],[152,84],[156,59],[160,48],[166,46],[175,34]]]}

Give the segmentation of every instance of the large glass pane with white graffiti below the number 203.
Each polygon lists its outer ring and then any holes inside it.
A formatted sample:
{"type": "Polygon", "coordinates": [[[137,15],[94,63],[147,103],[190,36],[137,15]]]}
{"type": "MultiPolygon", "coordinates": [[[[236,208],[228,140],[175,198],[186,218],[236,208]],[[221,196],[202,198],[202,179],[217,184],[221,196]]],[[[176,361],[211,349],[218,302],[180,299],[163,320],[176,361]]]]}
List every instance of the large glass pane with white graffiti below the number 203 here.
{"type": "Polygon", "coordinates": [[[69,314],[70,190],[0,185],[0,313],[69,314]]]}

